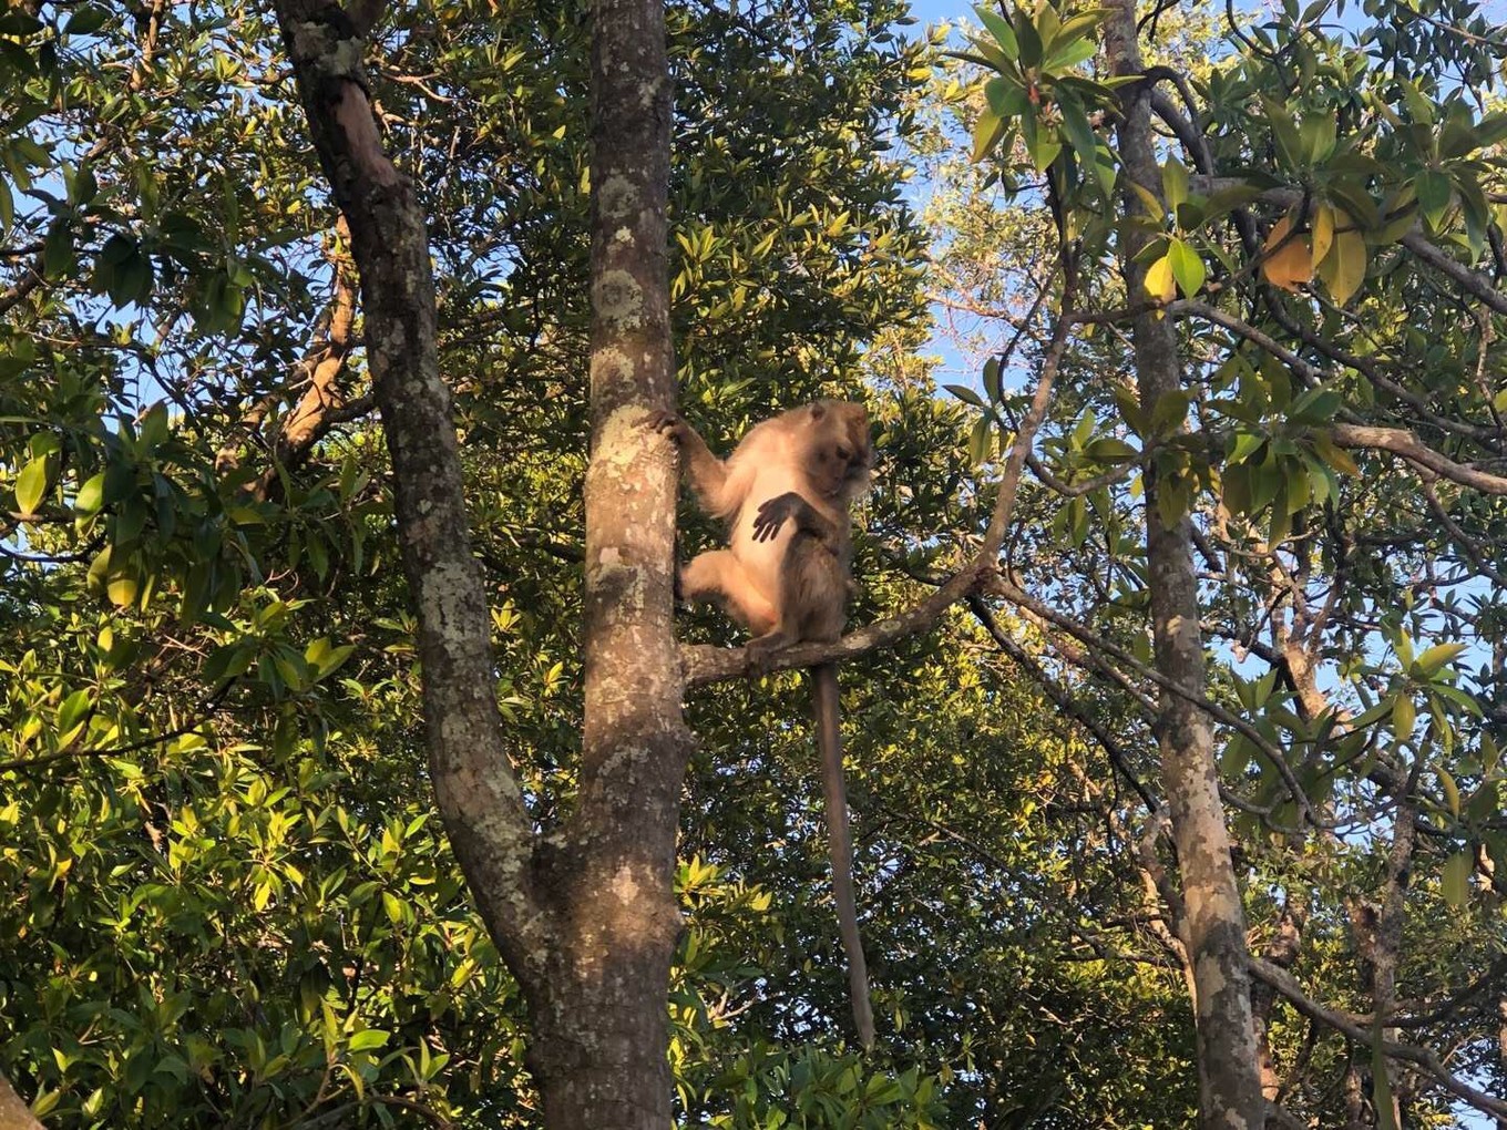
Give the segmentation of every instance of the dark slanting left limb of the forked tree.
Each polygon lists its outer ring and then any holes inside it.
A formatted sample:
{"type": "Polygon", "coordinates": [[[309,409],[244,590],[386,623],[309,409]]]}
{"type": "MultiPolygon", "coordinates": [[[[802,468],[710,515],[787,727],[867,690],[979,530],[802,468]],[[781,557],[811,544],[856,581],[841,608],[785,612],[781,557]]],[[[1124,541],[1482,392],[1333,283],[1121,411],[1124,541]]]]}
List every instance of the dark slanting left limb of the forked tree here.
{"type": "MultiPolygon", "coordinates": [[[[419,615],[429,771],[487,928],[520,979],[546,934],[533,835],[503,743],[482,573],[436,347],[434,279],[413,182],[383,151],[365,44],[329,0],[277,0],[319,164],[351,231],[366,356],[392,455],[404,574],[419,615]]],[[[363,15],[363,20],[366,17],[363,15]]]]}

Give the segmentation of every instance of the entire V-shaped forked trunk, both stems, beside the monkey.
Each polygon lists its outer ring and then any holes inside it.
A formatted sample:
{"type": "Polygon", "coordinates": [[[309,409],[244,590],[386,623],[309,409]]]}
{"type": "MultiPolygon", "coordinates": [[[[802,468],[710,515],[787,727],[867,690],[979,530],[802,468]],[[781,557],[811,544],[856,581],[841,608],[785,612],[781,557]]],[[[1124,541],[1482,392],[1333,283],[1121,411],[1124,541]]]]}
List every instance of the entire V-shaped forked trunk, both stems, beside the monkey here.
{"type": "Polygon", "coordinates": [[[506,756],[425,217],[362,69],[371,5],[277,0],[319,163],[351,231],[404,574],[419,621],[429,771],[467,886],[533,1023],[552,1130],[671,1119],[668,982],[680,785],[690,750],[671,630],[675,461],[643,426],[674,407],[666,273],[669,77],[659,0],[600,0],[594,45],[592,458],[586,725],[568,821],[533,832],[506,756]]]}

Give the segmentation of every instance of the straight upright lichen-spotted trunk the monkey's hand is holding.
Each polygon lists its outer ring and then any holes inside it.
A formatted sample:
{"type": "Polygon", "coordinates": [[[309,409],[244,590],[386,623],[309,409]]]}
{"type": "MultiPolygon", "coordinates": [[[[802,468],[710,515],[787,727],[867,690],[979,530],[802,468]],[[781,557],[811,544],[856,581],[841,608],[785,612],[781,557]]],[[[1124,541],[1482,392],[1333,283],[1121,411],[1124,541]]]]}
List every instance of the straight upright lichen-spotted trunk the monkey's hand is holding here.
{"type": "Polygon", "coordinates": [[[643,426],[675,402],[666,202],[671,87],[660,0],[597,0],[592,39],[586,731],[565,937],[533,1056],[553,1127],[671,1121],[671,878],[690,752],[671,624],[677,467],[643,426]]]}

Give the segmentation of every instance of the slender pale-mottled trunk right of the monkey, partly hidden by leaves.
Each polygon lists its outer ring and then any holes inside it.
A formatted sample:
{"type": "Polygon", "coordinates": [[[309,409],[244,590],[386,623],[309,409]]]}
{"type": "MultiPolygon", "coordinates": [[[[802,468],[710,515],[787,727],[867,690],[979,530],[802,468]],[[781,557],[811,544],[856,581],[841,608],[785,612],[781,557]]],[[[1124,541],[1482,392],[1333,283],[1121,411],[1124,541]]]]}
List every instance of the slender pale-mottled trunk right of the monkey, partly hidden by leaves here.
{"type": "MultiPolygon", "coordinates": [[[[1105,24],[1111,71],[1139,74],[1135,3],[1115,0],[1111,9],[1105,24]]],[[[1162,178],[1144,92],[1132,93],[1124,111],[1120,155],[1126,175],[1160,196],[1162,178]]],[[[1132,212],[1144,211],[1132,193],[1126,193],[1126,200],[1132,212]]],[[[1124,229],[1123,270],[1132,301],[1145,294],[1145,265],[1136,262],[1135,255],[1147,241],[1145,232],[1133,226],[1124,229]]],[[[1181,389],[1177,333],[1171,319],[1153,312],[1138,316],[1132,333],[1141,405],[1150,414],[1163,396],[1181,389]]],[[[1157,482],[1150,466],[1145,484],[1156,667],[1189,696],[1201,699],[1206,695],[1204,642],[1198,627],[1191,524],[1186,517],[1171,527],[1160,520],[1157,482]]],[[[1163,690],[1157,741],[1188,909],[1186,940],[1198,988],[1200,1125],[1209,1130],[1261,1127],[1266,1115],[1251,1014],[1245,912],[1219,802],[1213,729],[1209,717],[1188,698],[1163,690]]]]}

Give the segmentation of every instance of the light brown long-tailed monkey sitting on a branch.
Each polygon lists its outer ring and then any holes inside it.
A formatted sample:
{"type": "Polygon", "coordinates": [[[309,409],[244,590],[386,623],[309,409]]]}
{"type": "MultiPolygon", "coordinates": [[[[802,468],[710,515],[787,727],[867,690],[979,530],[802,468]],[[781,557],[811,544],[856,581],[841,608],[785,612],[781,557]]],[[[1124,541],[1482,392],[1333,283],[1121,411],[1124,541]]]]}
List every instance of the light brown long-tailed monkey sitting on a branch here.
{"type": "MultiPolygon", "coordinates": [[[[842,634],[854,594],[848,508],[868,490],[874,455],[868,413],[850,401],[815,401],[747,431],[726,461],[681,417],[650,417],[678,447],[702,509],[729,523],[729,547],[695,557],[677,573],[681,600],[714,600],[754,633],[750,666],[793,643],[830,643],[842,634]]],[[[811,669],[821,791],[826,799],[832,893],[848,961],[853,1023],[874,1044],[868,966],[853,898],[853,847],[838,728],[838,670],[811,669]]]]}

